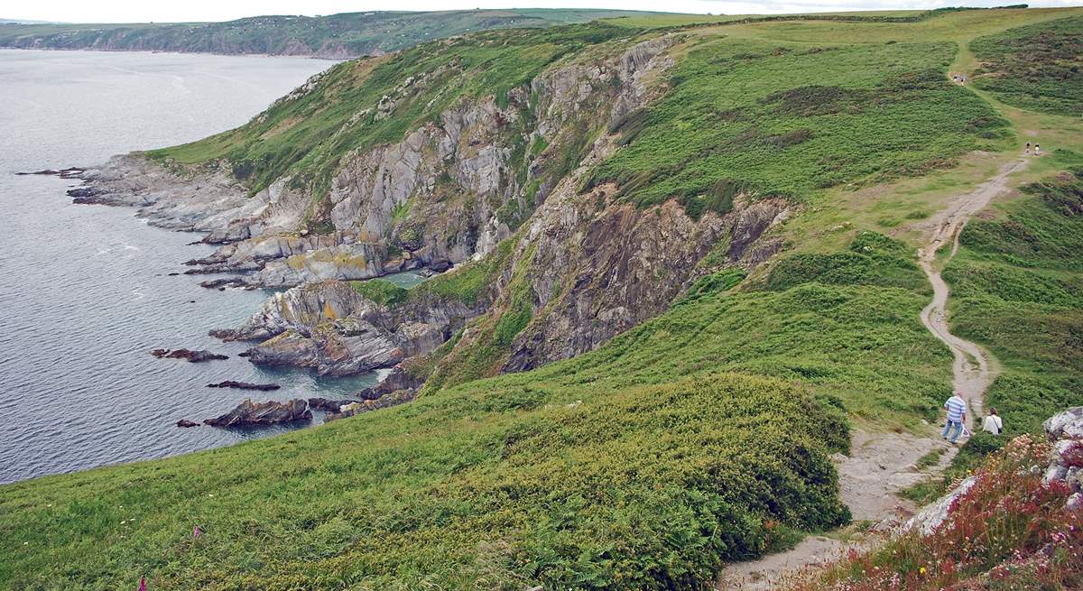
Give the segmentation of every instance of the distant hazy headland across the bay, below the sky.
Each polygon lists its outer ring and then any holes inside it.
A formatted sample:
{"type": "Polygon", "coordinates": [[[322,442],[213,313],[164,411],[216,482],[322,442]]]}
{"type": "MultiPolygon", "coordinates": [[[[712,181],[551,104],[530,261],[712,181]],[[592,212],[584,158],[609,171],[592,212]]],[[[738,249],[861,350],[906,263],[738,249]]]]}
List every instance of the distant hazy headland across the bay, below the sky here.
{"type": "Polygon", "coordinates": [[[253,16],[225,23],[38,24],[0,26],[0,47],[157,50],[203,53],[399,51],[465,32],[585,23],[635,11],[507,9],[443,12],[354,12],[328,16],[253,16]]]}

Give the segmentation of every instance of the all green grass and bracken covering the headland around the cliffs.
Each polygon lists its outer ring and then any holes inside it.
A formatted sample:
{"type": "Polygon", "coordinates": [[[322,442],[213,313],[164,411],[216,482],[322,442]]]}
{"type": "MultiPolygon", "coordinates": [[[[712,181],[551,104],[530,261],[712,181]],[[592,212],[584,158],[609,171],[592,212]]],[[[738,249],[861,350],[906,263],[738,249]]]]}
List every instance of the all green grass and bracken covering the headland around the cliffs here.
{"type": "MultiPolygon", "coordinates": [[[[340,65],[240,130],[156,153],[224,158],[253,187],[284,174],[318,187],[341,155],[454,101],[498,105],[553,64],[679,35],[655,81],[666,92],[611,130],[623,145],[595,182],[648,210],[718,211],[736,193],[801,209],[771,264],[704,272],[668,312],[578,357],[319,429],[0,487],[0,587],[699,590],[726,561],[847,521],[828,455],[850,423],[925,429],[951,389],[951,355],[918,320],[913,224],[1015,159],[1020,135],[1083,135],[952,86],[948,69],[974,39],[1071,14],[491,31],[340,65]],[[461,67],[446,94],[341,131],[448,63],[461,67]]],[[[1078,160],[1064,149],[1033,173],[1078,160]]],[[[944,274],[955,327],[1018,369],[1004,378],[1026,388],[1002,378],[991,394],[1013,430],[1078,400],[1078,182],[1046,180],[969,226],[944,274]],[[1042,334],[1009,332],[1019,318],[1042,334]]],[[[509,252],[418,289],[470,300],[509,252]]]]}

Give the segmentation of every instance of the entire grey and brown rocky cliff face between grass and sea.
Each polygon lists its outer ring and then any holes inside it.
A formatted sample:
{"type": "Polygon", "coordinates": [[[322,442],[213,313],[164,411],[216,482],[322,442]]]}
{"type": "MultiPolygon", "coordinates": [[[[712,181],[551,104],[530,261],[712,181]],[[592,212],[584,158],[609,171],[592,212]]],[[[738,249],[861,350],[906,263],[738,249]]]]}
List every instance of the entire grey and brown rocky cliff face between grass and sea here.
{"type": "MultiPolygon", "coordinates": [[[[212,332],[255,341],[243,354],[255,364],[325,376],[393,367],[468,326],[456,350],[487,345],[492,325],[512,315],[523,326],[499,343],[491,371],[527,370],[590,351],[666,310],[709,271],[700,264],[708,253],[751,268],[781,247],[761,239],[790,214],[778,199],[738,196],[732,211],[693,219],[676,201],[638,210],[616,187],[579,188],[616,149],[613,130],[664,93],[660,74],[679,39],[622,41],[608,55],[562,62],[510,89],[503,104],[494,96],[449,103],[401,141],[342,156],[326,195],[282,176],[249,197],[225,162],[182,179],[139,155],[87,171],[74,191],[88,202],[139,207],[155,225],[207,232],[203,241],[220,246],[188,261],[188,273],[237,274],[208,287],[295,286],[240,326],[212,332]],[[499,266],[470,303],[428,293],[381,305],[342,283],[497,255],[499,266]]],[[[338,132],[397,116],[397,105],[458,67],[403,80],[377,104],[357,105],[338,132]]],[[[446,363],[455,362],[453,351],[446,363]]]]}

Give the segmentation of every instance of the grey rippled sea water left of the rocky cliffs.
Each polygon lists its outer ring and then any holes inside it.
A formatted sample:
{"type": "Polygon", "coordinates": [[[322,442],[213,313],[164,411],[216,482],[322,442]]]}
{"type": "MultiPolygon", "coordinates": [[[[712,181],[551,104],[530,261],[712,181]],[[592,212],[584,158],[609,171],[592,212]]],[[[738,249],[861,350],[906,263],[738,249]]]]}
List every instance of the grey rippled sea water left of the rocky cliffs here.
{"type": "Polygon", "coordinates": [[[198,235],[134,210],[77,206],[75,184],[14,172],[87,166],[236,127],[331,65],[293,57],[0,50],[0,483],[229,445],[285,428],[180,429],[245,397],[345,397],[375,375],[259,369],[207,336],[263,291],[207,290],[182,272],[198,235]],[[157,359],[156,347],[230,359],[157,359]],[[276,382],[274,392],[209,389],[276,382]]]}

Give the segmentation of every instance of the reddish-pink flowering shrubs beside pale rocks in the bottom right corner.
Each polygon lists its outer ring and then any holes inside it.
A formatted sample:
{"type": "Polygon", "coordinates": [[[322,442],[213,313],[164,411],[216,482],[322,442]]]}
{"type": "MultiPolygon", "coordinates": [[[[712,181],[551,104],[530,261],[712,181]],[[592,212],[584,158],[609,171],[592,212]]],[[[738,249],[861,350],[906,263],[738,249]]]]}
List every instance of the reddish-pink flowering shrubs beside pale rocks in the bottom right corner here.
{"type": "Polygon", "coordinates": [[[1078,589],[1083,514],[1066,507],[1070,487],[1045,484],[1031,470],[1048,455],[1048,444],[1029,435],[1012,441],[931,535],[911,531],[869,553],[851,551],[790,590],[1078,589]]]}

